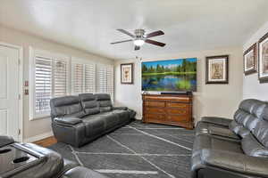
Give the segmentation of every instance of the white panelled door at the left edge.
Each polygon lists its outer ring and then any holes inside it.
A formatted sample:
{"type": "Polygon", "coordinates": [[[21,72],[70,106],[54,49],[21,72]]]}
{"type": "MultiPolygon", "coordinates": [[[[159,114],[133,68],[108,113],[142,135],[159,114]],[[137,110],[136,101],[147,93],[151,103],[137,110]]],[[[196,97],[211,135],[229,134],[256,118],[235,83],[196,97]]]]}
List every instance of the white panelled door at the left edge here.
{"type": "Polygon", "coordinates": [[[19,141],[19,50],[0,44],[0,135],[19,141]]]}

